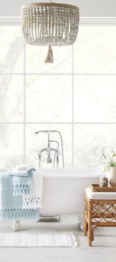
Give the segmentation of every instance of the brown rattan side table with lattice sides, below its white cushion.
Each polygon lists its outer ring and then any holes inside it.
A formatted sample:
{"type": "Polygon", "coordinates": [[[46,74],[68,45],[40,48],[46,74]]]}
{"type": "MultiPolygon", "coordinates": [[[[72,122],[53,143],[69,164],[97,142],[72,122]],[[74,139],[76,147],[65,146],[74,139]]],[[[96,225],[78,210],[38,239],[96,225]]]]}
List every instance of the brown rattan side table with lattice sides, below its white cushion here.
{"type": "Polygon", "coordinates": [[[89,199],[85,194],[84,235],[88,245],[94,240],[94,230],[97,227],[116,227],[116,199],[89,199]]]}

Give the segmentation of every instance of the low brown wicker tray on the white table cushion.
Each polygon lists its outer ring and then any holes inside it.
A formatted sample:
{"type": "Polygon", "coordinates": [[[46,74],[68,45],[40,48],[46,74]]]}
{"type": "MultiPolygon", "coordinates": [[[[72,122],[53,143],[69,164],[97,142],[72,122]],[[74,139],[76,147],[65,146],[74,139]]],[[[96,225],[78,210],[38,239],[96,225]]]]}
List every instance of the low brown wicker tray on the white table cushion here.
{"type": "Polygon", "coordinates": [[[116,192],[116,187],[100,187],[99,184],[90,184],[92,192],[116,192]]]}

